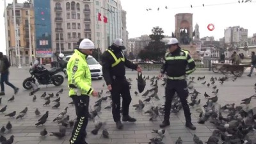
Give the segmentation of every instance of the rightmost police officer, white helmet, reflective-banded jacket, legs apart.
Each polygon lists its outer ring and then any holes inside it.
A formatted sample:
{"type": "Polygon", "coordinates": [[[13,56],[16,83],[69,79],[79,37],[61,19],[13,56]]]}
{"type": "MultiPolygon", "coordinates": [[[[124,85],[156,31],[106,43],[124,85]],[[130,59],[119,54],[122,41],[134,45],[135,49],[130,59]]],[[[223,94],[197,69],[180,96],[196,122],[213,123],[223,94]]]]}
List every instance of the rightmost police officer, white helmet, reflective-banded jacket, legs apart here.
{"type": "Polygon", "coordinates": [[[186,75],[196,70],[195,61],[191,58],[188,51],[184,51],[179,47],[179,41],[176,38],[170,38],[167,44],[168,51],[164,56],[164,64],[161,68],[159,77],[166,74],[167,83],[165,88],[165,105],[164,105],[164,121],[160,127],[170,125],[170,110],[173,95],[175,92],[179,95],[180,101],[184,109],[186,118],[186,127],[195,130],[196,127],[191,123],[191,113],[188,106],[188,88],[186,75]],[[187,68],[188,67],[188,68],[187,68]]]}

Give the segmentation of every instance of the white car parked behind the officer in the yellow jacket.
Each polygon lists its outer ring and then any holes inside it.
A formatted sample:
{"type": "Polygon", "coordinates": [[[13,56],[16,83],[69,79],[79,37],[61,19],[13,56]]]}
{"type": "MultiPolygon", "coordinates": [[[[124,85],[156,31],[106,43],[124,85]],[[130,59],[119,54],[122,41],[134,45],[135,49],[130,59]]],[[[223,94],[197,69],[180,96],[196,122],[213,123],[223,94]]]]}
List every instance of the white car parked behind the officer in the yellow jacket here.
{"type": "MultiPolygon", "coordinates": [[[[66,56],[65,60],[68,61],[72,55],[66,56]]],[[[93,58],[93,56],[87,57],[87,63],[89,65],[91,76],[95,79],[102,79],[102,66],[100,63],[93,58]]]]}

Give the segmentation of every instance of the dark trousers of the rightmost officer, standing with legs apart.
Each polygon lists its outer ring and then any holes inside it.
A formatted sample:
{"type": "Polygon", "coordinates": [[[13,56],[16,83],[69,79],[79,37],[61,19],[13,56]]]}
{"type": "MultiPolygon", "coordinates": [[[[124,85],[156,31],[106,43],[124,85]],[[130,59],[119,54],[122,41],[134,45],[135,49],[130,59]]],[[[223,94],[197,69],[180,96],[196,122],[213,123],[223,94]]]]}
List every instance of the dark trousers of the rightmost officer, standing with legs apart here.
{"type": "Polygon", "coordinates": [[[183,106],[186,123],[191,122],[191,113],[188,105],[188,88],[185,79],[171,80],[168,79],[165,88],[165,105],[164,105],[164,120],[168,121],[170,118],[170,110],[172,107],[173,95],[177,92],[180,102],[183,106]]]}

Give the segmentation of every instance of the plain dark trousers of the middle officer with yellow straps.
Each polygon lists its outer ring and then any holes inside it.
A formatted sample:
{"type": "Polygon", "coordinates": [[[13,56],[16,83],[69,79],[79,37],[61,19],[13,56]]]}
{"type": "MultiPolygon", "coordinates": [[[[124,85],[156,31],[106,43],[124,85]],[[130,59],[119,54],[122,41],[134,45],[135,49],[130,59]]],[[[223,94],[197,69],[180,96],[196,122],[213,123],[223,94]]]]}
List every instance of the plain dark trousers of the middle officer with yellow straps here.
{"type": "Polygon", "coordinates": [[[126,78],[112,79],[112,115],[115,122],[121,121],[120,116],[120,101],[122,96],[122,113],[124,116],[129,115],[129,106],[132,101],[129,83],[126,78]]]}

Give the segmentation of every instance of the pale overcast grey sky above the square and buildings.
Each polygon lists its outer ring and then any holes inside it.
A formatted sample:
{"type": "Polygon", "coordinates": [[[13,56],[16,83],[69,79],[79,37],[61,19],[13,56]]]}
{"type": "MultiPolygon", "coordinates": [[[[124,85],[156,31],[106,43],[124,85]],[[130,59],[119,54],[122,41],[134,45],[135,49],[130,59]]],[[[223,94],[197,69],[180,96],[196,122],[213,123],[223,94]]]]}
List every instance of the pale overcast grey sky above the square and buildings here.
{"type": "MultiPolygon", "coordinates": [[[[6,2],[12,3],[12,0],[6,0],[6,2]]],[[[22,2],[24,0],[18,0],[18,3],[22,2]]],[[[150,35],[151,29],[155,26],[163,28],[164,35],[172,35],[175,30],[174,15],[176,13],[193,13],[193,28],[196,23],[199,25],[201,38],[204,36],[214,36],[215,39],[222,38],[224,29],[228,26],[246,28],[248,36],[256,33],[256,0],[252,0],[252,3],[238,3],[238,0],[121,0],[121,2],[123,9],[127,11],[129,38],[150,35]],[[168,9],[165,9],[165,6],[168,9]],[[152,10],[147,11],[147,8],[152,8],[152,10]],[[214,24],[213,31],[207,29],[208,24],[214,24]]],[[[0,42],[2,47],[0,51],[6,53],[3,9],[4,3],[1,0],[0,31],[2,31],[2,35],[0,35],[0,42]]]]}

